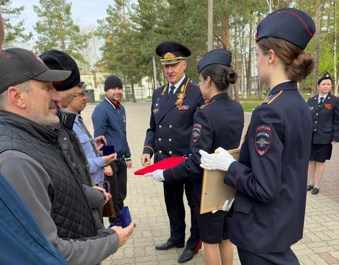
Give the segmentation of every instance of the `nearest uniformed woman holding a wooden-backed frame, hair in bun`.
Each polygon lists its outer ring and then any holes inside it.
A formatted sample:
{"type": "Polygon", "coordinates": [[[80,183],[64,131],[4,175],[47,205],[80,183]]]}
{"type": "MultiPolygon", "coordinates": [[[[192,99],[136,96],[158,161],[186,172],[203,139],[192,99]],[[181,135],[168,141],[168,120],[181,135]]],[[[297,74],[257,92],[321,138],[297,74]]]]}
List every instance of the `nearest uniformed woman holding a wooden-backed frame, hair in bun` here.
{"type": "Polygon", "coordinates": [[[312,18],[294,8],[259,23],[256,66],[271,91],[253,111],[239,162],[222,148],[200,151],[201,166],[227,171],[224,182],[237,190],[230,240],[242,265],[299,264],[291,245],[303,235],[312,117],[296,82],[313,71],[304,49],[314,32],[312,18]]]}

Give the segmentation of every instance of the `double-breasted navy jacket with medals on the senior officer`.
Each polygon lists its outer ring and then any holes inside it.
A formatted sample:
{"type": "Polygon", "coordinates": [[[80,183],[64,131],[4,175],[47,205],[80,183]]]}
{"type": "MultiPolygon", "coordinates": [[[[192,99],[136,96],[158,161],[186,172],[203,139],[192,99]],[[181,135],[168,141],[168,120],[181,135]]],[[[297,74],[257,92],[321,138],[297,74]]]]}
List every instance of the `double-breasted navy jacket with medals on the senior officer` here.
{"type": "Polygon", "coordinates": [[[152,115],[143,154],[154,154],[154,163],[169,157],[181,157],[191,151],[193,115],[204,104],[199,85],[187,76],[175,94],[184,94],[181,107],[173,96],[168,101],[168,83],[154,91],[152,115]]]}

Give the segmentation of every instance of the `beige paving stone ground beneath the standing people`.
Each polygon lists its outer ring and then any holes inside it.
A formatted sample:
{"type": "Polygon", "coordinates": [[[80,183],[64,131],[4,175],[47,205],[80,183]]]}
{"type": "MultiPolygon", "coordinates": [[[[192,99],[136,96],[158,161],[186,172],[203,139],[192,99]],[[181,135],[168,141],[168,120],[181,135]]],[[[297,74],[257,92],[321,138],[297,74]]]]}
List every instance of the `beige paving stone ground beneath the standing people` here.
{"type": "MultiPolygon", "coordinates": [[[[174,265],[183,248],[156,250],[155,245],[169,238],[169,221],[163,198],[162,184],[152,178],[135,176],[135,170],[142,168],[141,154],[146,129],[149,127],[151,101],[123,103],[126,109],[127,140],[132,152],[133,168],[128,169],[127,198],[125,205],[131,211],[136,227],[126,244],[101,265],[174,265]]],[[[95,105],[87,105],[82,117],[93,133],[91,115],[95,105]]],[[[244,131],[250,121],[245,114],[244,131]]],[[[334,145],[332,159],[326,162],[324,177],[318,195],[307,192],[304,237],[292,246],[301,265],[339,264],[339,143],[334,145]]],[[[305,187],[306,188],[306,187],[305,187]]],[[[190,211],[186,205],[186,223],[190,224],[190,211]]],[[[108,219],[104,218],[108,227],[108,219]]],[[[189,234],[186,227],[186,239],[189,234]]],[[[286,231],[288,233],[288,231],[286,231]]],[[[203,265],[203,247],[193,260],[185,264],[203,265]]],[[[234,265],[240,265],[237,249],[234,247],[234,265]]],[[[254,264],[260,265],[260,264],[254,264]]]]}

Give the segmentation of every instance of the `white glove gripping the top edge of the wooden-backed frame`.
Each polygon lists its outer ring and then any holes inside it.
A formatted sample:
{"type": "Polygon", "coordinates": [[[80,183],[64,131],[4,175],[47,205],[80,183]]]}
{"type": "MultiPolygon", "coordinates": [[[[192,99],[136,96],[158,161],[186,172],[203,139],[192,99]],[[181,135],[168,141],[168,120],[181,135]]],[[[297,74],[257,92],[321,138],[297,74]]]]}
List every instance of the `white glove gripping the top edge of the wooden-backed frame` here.
{"type": "Polygon", "coordinates": [[[215,152],[219,154],[207,154],[204,150],[199,150],[201,155],[200,166],[207,170],[227,171],[228,167],[236,161],[225,149],[218,147],[215,152]]]}

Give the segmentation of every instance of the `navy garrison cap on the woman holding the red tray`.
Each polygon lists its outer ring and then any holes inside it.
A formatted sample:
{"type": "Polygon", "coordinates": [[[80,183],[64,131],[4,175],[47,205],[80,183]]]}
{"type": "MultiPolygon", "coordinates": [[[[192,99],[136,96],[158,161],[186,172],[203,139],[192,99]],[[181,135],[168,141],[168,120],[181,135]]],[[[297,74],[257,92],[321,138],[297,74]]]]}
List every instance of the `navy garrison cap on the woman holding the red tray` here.
{"type": "Polygon", "coordinates": [[[210,64],[222,64],[228,67],[231,66],[232,52],[226,49],[214,49],[207,52],[199,61],[197,65],[198,73],[210,64]]]}

